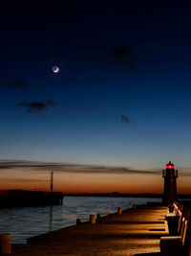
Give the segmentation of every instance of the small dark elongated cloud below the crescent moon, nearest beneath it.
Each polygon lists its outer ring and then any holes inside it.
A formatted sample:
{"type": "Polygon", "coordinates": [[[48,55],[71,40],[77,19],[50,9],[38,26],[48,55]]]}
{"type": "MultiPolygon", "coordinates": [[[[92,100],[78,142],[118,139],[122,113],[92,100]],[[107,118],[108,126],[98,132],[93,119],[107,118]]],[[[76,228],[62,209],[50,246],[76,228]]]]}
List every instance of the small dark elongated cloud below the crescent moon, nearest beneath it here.
{"type": "Polygon", "coordinates": [[[50,106],[55,106],[56,103],[53,101],[47,101],[47,102],[23,102],[20,103],[19,106],[25,107],[28,112],[41,112],[43,110],[47,110],[50,106]]]}

